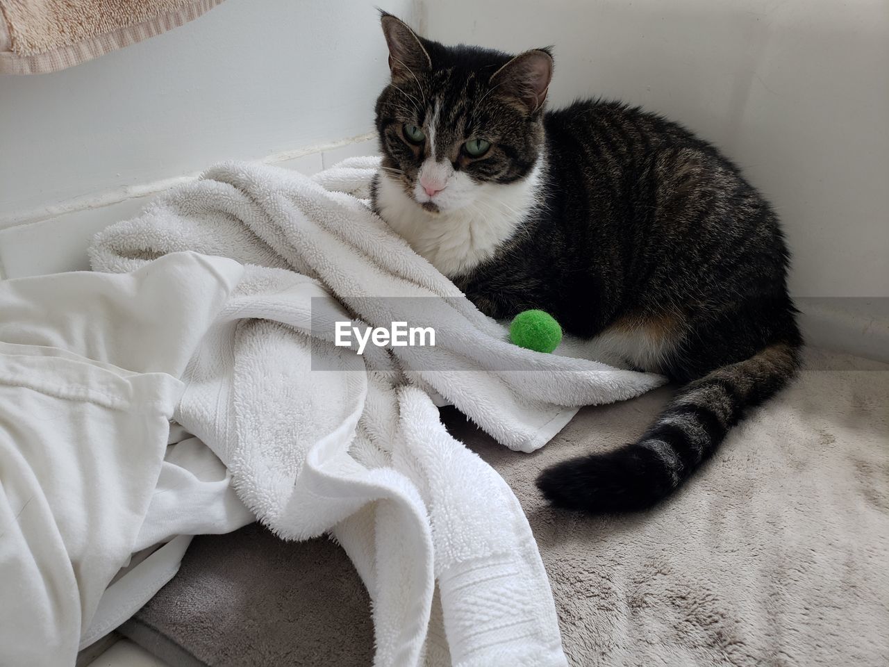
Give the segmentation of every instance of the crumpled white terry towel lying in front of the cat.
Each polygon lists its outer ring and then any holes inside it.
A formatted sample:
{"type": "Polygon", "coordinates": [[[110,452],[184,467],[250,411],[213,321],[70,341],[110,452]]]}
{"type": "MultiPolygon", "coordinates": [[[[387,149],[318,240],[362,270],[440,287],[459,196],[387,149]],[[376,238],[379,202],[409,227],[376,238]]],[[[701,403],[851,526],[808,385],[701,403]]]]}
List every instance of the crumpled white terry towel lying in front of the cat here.
{"type": "Polygon", "coordinates": [[[373,602],[375,664],[564,665],[525,515],[502,478],[447,434],[429,393],[502,444],[533,451],[576,406],[631,398],[662,378],[509,344],[344,191],[366,192],[378,164],[351,161],[314,180],[215,167],[100,233],[93,268],[138,269],[188,250],[244,263],[182,375],[175,418],[277,534],[336,536],[373,602]],[[324,325],[432,325],[436,346],[357,356],[333,345],[313,322],[319,313],[324,325]]]}

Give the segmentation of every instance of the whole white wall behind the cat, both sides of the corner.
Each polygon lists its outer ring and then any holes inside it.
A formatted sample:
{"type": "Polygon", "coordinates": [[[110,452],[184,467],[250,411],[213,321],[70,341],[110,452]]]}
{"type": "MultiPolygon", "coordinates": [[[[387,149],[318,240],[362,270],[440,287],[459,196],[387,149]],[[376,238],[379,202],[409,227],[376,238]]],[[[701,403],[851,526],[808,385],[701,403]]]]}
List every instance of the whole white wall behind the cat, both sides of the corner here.
{"type": "MultiPolygon", "coordinates": [[[[387,76],[372,2],[228,0],[76,68],[0,76],[0,227],[21,210],[368,132],[387,76]]],[[[446,42],[555,44],[554,102],[643,104],[745,168],[784,220],[795,293],[889,295],[885,0],[380,4],[446,42]]]]}

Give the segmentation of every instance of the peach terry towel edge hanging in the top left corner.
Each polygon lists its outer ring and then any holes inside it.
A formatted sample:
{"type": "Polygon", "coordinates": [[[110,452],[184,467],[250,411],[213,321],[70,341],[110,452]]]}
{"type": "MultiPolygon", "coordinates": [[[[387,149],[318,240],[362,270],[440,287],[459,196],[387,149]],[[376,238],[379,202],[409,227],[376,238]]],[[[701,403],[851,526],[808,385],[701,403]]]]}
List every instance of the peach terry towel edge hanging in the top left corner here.
{"type": "Polygon", "coordinates": [[[0,73],[45,74],[160,35],[222,0],[0,0],[0,73]]]}

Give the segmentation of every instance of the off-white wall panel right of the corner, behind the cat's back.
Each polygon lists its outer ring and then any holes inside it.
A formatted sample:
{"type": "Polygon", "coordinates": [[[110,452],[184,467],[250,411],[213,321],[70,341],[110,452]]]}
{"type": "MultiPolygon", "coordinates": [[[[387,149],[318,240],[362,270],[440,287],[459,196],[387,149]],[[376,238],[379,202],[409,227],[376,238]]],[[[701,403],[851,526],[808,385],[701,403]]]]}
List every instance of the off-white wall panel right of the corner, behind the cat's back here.
{"type": "Polygon", "coordinates": [[[715,141],[778,209],[808,296],[889,296],[885,0],[450,0],[428,36],[555,44],[551,100],[642,104],[715,141]]]}

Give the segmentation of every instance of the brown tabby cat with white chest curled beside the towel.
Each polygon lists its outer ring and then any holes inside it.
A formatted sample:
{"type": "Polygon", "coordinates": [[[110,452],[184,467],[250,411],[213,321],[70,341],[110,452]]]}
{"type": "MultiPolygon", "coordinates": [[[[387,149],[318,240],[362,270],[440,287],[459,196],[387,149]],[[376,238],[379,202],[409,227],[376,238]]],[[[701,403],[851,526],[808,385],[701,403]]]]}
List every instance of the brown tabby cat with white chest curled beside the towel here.
{"type": "Polygon", "coordinates": [[[382,12],[372,207],[491,317],[543,309],[677,395],[636,442],[544,470],[557,507],[644,510],[796,373],[789,253],[714,146],[615,101],[545,109],[549,48],[445,46],[382,12]]]}

